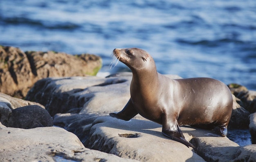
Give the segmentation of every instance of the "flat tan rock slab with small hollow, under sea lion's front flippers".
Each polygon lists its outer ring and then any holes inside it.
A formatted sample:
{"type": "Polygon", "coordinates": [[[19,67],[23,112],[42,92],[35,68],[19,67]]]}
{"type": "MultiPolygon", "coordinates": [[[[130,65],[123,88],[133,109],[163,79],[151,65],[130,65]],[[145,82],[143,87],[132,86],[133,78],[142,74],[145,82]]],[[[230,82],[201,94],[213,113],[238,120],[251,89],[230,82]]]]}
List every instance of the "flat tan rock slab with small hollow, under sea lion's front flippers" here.
{"type": "MultiPolygon", "coordinates": [[[[182,127],[186,140],[191,139],[189,133],[194,130],[182,127]]],[[[141,162],[204,162],[191,148],[162,135],[160,124],[148,120],[127,122],[109,116],[97,118],[85,146],[141,162]],[[126,134],[137,138],[120,137],[126,134]]]]}

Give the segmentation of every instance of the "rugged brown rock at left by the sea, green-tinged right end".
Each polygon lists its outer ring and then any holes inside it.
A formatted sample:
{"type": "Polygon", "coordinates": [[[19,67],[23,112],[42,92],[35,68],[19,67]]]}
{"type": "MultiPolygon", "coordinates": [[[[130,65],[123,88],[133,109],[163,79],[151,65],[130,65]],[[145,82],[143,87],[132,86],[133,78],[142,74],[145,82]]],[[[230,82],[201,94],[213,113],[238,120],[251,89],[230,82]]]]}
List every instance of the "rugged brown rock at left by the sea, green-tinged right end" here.
{"type": "Polygon", "coordinates": [[[0,46],[0,92],[24,98],[37,80],[47,77],[96,75],[100,57],[89,54],[23,52],[0,46]]]}

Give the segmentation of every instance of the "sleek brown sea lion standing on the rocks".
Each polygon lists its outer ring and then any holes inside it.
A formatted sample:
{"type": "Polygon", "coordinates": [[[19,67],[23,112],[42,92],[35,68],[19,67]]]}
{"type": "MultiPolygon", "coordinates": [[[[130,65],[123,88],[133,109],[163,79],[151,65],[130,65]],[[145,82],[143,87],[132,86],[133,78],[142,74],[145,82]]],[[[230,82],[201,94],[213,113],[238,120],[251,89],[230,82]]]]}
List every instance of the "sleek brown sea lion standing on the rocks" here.
{"type": "Polygon", "coordinates": [[[212,78],[171,79],[157,72],[154,59],[138,48],[114,49],[113,55],[132,71],[130,100],[110,116],[130,120],[138,113],[162,124],[162,133],[186,146],[179,125],[194,125],[227,135],[232,95],[224,83],[212,78]]]}

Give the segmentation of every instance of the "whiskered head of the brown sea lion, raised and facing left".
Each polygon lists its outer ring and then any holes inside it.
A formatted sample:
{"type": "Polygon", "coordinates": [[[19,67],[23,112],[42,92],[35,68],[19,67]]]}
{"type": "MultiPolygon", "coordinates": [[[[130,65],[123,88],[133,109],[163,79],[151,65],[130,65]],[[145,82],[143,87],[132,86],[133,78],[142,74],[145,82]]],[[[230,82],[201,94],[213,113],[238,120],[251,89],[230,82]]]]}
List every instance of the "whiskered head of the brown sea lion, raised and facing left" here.
{"type": "Polygon", "coordinates": [[[155,68],[153,58],[143,49],[114,49],[113,54],[119,61],[126,64],[132,71],[138,71],[145,68],[155,68]]]}

